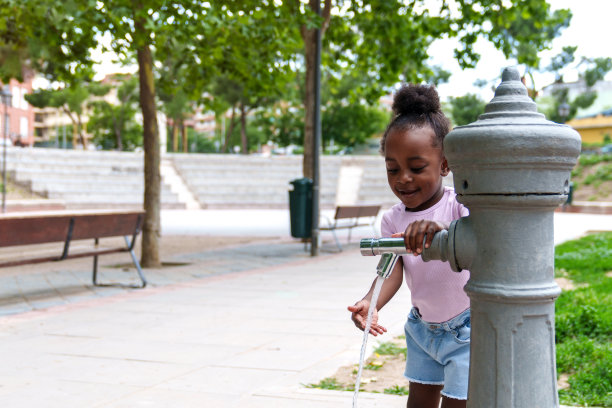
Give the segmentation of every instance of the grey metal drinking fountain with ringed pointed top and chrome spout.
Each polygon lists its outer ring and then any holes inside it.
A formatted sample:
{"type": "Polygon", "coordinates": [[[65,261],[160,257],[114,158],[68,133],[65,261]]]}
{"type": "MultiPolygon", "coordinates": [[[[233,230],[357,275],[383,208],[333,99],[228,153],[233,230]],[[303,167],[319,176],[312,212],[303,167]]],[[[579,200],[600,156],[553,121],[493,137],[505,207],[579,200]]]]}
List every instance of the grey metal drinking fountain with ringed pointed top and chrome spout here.
{"type": "MultiPolygon", "coordinates": [[[[554,210],[566,201],[580,136],[545,119],[515,68],[476,122],[444,140],[468,217],[434,237],[423,259],[468,269],[472,336],[467,406],[558,407],[554,210]]],[[[363,255],[402,252],[398,238],[365,239],[363,255]]]]}

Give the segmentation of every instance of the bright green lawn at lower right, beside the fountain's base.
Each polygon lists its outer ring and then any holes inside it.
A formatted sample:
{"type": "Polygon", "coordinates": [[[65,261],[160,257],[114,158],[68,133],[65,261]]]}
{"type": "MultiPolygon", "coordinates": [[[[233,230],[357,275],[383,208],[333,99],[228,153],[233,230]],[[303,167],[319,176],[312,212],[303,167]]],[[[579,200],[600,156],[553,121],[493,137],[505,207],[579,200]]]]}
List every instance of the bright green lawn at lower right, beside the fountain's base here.
{"type": "Polygon", "coordinates": [[[555,266],[579,286],[555,305],[557,372],[569,375],[561,403],[612,407],[612,233],[557,246],[555,266]]]}

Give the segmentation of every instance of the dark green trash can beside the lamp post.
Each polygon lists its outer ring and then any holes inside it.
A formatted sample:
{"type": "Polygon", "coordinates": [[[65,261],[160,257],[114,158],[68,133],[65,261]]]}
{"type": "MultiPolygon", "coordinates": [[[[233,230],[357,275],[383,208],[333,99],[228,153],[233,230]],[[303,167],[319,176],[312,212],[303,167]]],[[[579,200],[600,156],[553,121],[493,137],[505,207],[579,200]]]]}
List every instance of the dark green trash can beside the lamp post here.
{"type": "Polygon", "coordinates": [[[291,236],[310,238],[312,236],[312,180],[299,178],[290,181],[289,214],[291,217],[291,236]]]}

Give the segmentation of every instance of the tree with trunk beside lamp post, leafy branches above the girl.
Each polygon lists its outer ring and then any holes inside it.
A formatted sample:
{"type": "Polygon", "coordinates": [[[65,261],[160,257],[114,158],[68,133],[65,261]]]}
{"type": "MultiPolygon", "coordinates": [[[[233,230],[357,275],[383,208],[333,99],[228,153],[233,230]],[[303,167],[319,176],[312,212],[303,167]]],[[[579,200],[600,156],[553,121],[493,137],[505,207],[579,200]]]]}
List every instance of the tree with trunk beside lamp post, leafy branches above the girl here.
{"type": "Polygon", "coordinates": [[[551,12],[545,0],[443,1],[439,10],[430,10],[425,0],[337,1],[336,4],[324,0],[320,16],[314,12],[319,1],[309,0],[307,6],[289,1],[282,6],[297,16],[304,42],[305,177],[313,174],[317,27],[324,35],[324,66],[336,73],[351,73],[361,78],[354,93],[372,103],[398,81],[420,82],[432,74],[431,67],[427,66],[427,50],[434,39],[458,37],[461,47],[455,56],[462,67],[473,67],[478,61],[479,56],[472,48],[478,37],[491,41],[506,57],[516,57],[520,63],[534,63],[537,53],[548,46],[571,18],[567,10],[551,12]],[[334,7],[341,12],[332,13],[334,7]]]}

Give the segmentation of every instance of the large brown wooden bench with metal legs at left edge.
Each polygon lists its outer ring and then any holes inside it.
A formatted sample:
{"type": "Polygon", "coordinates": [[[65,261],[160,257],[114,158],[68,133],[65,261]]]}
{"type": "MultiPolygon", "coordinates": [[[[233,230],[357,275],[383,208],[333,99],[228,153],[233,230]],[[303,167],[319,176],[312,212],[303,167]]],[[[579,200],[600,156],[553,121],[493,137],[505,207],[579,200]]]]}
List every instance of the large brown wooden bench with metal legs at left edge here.
{"type": "MultiPolygon", "coordinates": [[[[95,286],[127,286],[144,288],[147,281],[134,254],[134,244],[141,231],[143,211],[53,211],[37,213],[0,214],[0,248],[39,245],[39,250],[26,251],[20,257],[1,259],[1,267],[62,261],[93,257],[93,284],[95,286]],[[125,245],[102,248],[101,238],[123,237],[125,245]],[[93,239],[93,246],[73,250],[77,240],[93,239]],[[44,254],[40,244],[63,243],[61,253],[44,254]],[[103,284],[98,282],[98,256],[129,252],[138,271],[140,285],[103,284]]],[[[61,246],[61,245],[60,245],[61,246]]]]}

